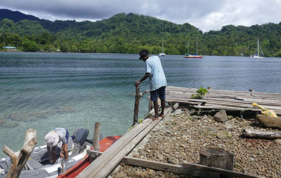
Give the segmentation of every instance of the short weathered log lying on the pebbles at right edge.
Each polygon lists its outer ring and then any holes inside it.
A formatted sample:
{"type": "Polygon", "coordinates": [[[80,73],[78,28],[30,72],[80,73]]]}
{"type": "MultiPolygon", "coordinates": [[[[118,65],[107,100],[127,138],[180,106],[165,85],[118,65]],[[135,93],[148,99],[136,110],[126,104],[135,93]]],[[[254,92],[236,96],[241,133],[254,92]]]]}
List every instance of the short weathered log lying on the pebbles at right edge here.
{"type": "Polygon", "coordinates": [[[281,132],[269,132],[256,129],[244,129],[242,136],[245,138],[280,139],[281,132]]]}

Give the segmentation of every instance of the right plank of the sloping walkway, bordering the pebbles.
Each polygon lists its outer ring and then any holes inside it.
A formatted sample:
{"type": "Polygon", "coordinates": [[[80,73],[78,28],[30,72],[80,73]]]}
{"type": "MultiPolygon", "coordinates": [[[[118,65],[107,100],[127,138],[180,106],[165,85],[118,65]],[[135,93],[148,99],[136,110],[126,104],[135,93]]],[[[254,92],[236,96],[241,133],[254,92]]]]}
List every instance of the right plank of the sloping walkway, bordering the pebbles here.
{"type": "MultiPolygon", "coordinates": [[[[164,115],[166,115],[171,108],[166,108],[164,111],[164,115]]],[[[96,173],[91,174],[91,176],[95,178],[105,178],[110,174],[110,172],[118,165],[119,162],[144,138],[151,129],[155,127],[156,124],[160,122],[162,117],[159,117],[159,120],[154,120],[150,125],[148,125],[145,129],[141,131],[134,139],[131,140],[120,152],[118,152],[102,169],[96,173]]],[[[90,177],[91,177],[90,176],[90,177]]]]}

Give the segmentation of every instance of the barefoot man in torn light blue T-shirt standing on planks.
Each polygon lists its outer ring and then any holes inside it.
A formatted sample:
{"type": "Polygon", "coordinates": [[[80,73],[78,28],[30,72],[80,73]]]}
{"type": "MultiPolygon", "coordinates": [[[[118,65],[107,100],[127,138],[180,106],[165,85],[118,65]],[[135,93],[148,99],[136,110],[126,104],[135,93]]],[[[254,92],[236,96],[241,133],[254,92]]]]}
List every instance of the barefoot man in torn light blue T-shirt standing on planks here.
{"type": "Polygon", "coordinates": [[[150,119],[158,120],[159,116],[164,117],[165,109],[165,88],[167,86],[166,77],[158,56],[150,56],[147,49],[140,51],[140,58],[145,62],[146,73],[141,80],[135,82],[137,87],[142,81],[149,77],[150,99],[153,101],[155,116],[150,119]],[[161,100],[161,113],[158,115],[158,96],[161,100]]]}

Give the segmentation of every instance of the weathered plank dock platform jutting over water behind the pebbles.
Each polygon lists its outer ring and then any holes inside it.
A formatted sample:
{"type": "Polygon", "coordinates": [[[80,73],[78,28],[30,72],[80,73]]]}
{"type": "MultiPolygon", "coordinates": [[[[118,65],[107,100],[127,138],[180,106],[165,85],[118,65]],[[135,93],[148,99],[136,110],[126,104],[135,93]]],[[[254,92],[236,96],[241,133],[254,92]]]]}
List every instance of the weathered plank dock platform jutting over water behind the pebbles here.
{"type": "Polygon", "coordinates": [[[203,100],[190,99],[196,88],[166,87],[166,102],[187,104],[198,109],[244,110],[260,112],[253,102],[281,115],[281,93],[208,90],[203,100]]]}

